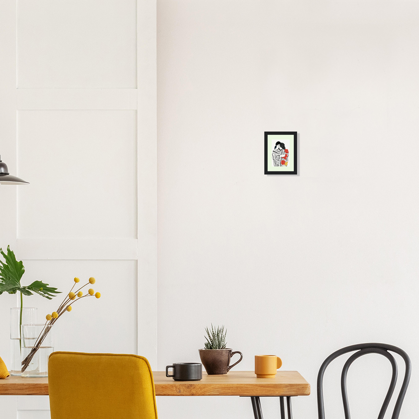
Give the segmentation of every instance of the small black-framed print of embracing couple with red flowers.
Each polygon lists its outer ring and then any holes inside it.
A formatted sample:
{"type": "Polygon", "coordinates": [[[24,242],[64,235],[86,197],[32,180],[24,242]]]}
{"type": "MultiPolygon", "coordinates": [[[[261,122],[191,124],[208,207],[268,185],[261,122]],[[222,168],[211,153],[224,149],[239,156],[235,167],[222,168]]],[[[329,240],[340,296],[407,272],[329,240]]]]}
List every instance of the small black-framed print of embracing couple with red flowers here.
{"type": "Polygon", "coordinates": [[[297,174],[297,132],[265,131],[265,175],[297,174]]]}

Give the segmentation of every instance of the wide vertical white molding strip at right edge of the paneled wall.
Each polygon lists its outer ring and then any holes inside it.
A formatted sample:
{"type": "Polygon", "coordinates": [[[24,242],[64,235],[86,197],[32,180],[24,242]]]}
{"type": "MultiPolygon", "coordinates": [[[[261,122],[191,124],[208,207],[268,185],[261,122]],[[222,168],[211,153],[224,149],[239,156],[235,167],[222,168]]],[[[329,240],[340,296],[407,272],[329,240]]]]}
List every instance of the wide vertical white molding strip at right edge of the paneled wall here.
{"type": "Polygon", "coordinates": [[[137,1],[138,353],[157,367],[157,3],[137,1]]]}

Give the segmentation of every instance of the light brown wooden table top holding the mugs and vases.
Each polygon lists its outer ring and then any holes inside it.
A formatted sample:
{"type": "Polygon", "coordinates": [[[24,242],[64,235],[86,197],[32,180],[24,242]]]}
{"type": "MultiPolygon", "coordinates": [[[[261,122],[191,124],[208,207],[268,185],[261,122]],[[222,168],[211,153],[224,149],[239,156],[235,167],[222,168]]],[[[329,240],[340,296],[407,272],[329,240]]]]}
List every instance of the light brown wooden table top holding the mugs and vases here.
{"type": "MultiPolygon", "coordinates": [[[[297,371],[278,371],[275,378],[256,378],[253,371],[225,375],[202,373],[200,381],[174,381],[164,371],[153,372],[156,396],[308,396],[310,384],[297,371]]],[[[0,380],[0,395],[48,396],[48,378],[8,377],[0,380]]]]}

